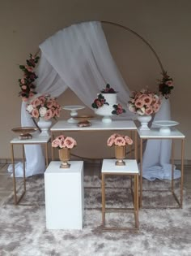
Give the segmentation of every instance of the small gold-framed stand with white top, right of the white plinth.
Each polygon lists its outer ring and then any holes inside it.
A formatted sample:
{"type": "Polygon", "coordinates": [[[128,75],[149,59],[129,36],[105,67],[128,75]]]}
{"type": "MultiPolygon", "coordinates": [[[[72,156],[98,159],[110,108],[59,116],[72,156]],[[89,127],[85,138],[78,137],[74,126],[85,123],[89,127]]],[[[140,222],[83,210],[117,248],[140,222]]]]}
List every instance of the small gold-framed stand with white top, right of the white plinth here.
{"type": "MultiPolygon", "coordinates": [[[[138,164],[134,159],[125,159],[125,166],[115,165],[116,159],[104,159],[101,169],[102,176],[102,228],[105,231],[110,230],[138,230],[138,164]],[[105,177],[106,176],[131,176],[134,178],[134,196],[133,208],[106,208],[105,206],[105,177]],[[105,225],[105,213],[106,212],[131,212],[134,214],[134,227],[106,227],[105,225]]],[[[131,188],[132,189],[132,188],[131,188]]]]}

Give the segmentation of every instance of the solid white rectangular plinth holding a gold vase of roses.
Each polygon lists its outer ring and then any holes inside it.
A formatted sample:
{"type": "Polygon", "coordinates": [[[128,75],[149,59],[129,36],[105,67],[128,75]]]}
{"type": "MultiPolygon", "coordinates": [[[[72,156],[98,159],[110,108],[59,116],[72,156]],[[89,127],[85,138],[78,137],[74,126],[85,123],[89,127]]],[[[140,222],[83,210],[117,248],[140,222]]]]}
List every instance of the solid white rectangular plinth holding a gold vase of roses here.
{"type": "Polygon", "coordinates": [[[83,161],[60,168],[52,161],[45,171],[45,212],[48,229],[83,228],[83,161]]]}

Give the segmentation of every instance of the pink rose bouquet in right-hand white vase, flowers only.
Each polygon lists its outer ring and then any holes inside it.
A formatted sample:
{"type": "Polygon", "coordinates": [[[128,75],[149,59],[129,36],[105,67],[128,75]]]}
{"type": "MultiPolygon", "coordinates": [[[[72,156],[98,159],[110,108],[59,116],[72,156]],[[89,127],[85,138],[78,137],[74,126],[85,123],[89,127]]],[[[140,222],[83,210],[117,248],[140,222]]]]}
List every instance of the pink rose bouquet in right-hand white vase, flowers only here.
{"type": "Polygon", "coordinates": [[[161,99],[148,89],[134,91],[129,100],[129,111],[138,115],[151,115],[159,111],[161,99]]]}

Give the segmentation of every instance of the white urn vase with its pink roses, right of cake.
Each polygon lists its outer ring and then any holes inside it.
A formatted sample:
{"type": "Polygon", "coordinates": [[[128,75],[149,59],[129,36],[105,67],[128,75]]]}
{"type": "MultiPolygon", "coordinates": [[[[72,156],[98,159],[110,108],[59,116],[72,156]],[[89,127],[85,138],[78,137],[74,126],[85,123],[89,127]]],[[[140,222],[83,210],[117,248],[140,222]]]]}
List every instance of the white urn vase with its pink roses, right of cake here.
{"type": "Polygon", "coordinates": [[[137,114],[137,119],[141,123],[140,130],[150,130],[148,123],[152,119],[152,115],[159,111],[161,106],[161,98],[157,93],[148,89],[134,91],[129,99],[129,111],[137,114]]]}

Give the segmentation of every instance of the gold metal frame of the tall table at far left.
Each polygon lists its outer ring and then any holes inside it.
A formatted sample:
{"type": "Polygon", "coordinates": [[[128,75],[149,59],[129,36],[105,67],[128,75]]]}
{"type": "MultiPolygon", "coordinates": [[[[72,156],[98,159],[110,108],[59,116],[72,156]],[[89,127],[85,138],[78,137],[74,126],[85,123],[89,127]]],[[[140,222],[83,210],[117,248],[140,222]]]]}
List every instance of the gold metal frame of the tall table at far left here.
{"type": "MultiPolygon", "coordinates": [[[[50,141],[50,139],[49,139],[50,141]]],[[[26,173],[25,173],[25,154],[24,154],[24,145],[41,145],[45,144],[45,161],[46,161],[46,167],[49,165],[49,154],[48,154],[48,144],[47,142],[28,142],[25,143],[23,141],[20,142],[14,142],[11,143],[11,162],[13,167],[13,192],[14,192],[14,204],[17,205],[23,198],[24,194],[26,193],[26,173]],[[14,155],[14,145],[22,145],[22,158],[23,158],[23,193],[20,195],[20,197],[17,197],[17,188],[16,188],[16,178],[15,178],[15,155],[14,155]]]]}

